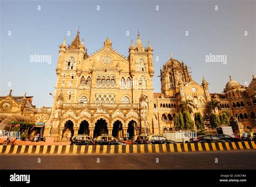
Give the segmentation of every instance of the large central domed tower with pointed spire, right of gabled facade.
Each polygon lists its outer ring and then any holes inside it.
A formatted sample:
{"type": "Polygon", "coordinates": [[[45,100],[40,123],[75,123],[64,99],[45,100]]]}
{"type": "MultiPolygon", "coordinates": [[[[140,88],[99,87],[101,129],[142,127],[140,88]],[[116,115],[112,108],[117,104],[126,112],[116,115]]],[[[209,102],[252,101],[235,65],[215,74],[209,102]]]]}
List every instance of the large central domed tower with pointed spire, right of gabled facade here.
{"type": "Polygon", "coordinates": [[[188,67],[184,62],[173,59],[172,53],[170,53],[170,60],[160,69],[160,77],[161,92],[164,93],[165,96],[171,97],[174,97],[176,93],[180,92],[181,84],[185,85],[191,81],[188,67]]]}

